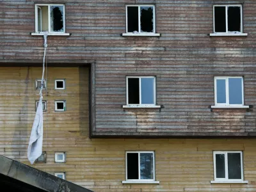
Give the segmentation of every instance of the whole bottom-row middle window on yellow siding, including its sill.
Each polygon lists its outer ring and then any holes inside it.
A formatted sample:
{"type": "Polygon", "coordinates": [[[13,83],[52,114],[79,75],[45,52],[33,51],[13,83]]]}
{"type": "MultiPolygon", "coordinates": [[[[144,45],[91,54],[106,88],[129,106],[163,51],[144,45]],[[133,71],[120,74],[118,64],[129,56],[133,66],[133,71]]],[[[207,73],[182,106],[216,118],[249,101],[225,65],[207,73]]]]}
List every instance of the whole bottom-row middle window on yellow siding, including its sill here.
{"type": "MultiPolygon", "coordinates": [[[[130,182],[154,182],[155,162],[154,152],[126,152],[126,181],[130,182]]],[[[125,182],[123,182],[125,183],[125,182]]]]}

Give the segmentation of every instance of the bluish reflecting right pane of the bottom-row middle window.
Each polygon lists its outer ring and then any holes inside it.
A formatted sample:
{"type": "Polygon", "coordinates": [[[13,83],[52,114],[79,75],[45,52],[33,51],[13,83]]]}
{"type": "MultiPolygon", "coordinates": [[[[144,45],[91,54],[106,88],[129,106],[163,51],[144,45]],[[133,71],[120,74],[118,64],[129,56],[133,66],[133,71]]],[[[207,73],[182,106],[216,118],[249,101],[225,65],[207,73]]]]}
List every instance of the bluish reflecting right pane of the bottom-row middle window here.
{"type": "Polygon", "coordinates": [[[140,154],[140,179],[154,179],[153,154],[140,154]]]}

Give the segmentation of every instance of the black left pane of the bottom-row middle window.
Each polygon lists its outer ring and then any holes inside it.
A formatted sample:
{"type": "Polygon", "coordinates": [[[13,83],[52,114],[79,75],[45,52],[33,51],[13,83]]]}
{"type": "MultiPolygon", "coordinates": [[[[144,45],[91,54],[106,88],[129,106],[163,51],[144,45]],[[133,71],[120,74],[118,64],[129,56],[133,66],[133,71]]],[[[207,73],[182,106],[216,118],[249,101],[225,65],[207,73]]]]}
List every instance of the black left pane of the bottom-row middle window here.
{"type": "Polygon", "coordinates": [[[127,153],[127,179],[139,179],[139,160],[136,153],[127,153]]]}

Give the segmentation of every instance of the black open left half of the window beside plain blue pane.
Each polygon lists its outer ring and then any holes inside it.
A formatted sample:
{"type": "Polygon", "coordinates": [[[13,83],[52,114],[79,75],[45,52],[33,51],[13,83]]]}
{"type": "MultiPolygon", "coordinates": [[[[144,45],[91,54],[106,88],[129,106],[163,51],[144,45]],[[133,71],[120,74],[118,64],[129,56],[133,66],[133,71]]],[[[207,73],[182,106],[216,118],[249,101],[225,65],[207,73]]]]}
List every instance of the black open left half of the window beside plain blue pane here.
{"type": "Polygon", "coordinates": [[[139,78],[128,78],[128,104],[140,104],[139,78]]]}

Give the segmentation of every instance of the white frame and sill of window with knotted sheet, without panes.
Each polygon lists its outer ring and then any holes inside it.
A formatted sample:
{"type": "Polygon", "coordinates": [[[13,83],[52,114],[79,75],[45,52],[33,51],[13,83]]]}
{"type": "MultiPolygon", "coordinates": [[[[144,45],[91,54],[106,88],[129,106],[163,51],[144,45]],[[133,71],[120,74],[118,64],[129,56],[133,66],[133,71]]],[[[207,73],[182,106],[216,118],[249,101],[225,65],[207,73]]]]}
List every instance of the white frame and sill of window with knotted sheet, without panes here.
{"type": "MultiPolygon", "coordinates": [[[[65,4],[35,4],[35,33],[31,33],[31,35],[44,35],[44,32],[38,31],[38,12],[37,8],[38,6],[47,6],[48,7],[48,35],[70,35],[69,33],[65,33],[66,31],[66,12],[65,12],[65,4]],[[63,32],[56,32],[51,31],[51,13],[50,13],[50,7],[51,6],[63,6],[63,32]]],[[[42,14],[42,10],[41,10],[42,14]]],[[[42,17],[41,17],[41,23],[42,23],[42,17]]],[[[42,24],[41,24],[42,27],[42,24]]]]}

